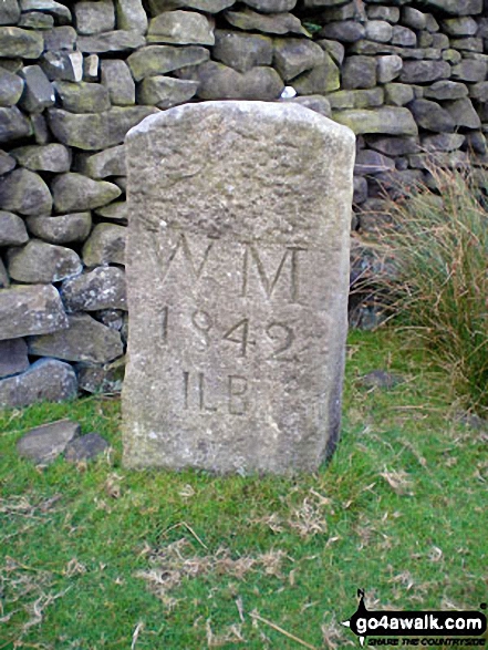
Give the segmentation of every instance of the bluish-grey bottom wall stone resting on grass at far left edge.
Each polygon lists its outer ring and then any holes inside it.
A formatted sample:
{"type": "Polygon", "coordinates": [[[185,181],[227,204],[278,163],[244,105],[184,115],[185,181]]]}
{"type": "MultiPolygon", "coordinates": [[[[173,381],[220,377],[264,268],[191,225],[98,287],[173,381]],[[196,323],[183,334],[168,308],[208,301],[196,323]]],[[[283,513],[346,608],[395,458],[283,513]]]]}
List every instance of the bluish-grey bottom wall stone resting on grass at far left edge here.
{"type": "Polygon", "coordinates": [[[21,409],[39,402],[64,402],[77,393],[77,381],[69,363],[41,359],[22,374],[0,381],[0,404],[21,409]]]}

